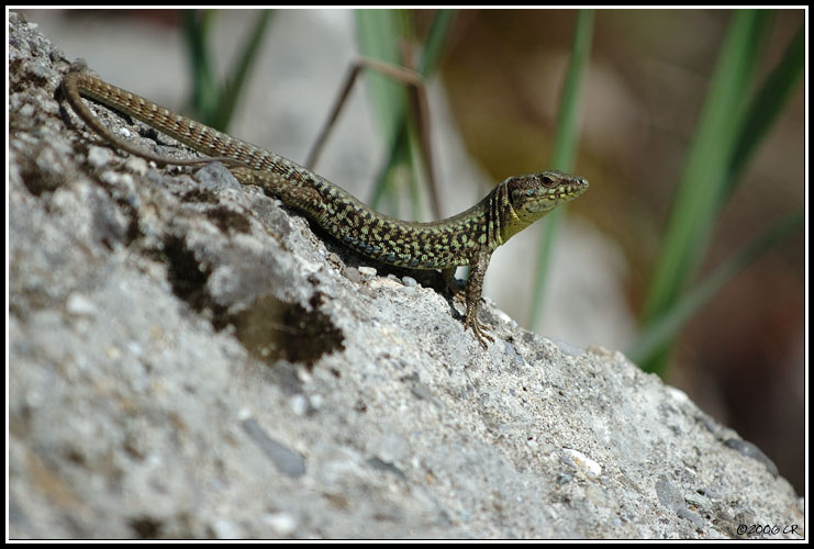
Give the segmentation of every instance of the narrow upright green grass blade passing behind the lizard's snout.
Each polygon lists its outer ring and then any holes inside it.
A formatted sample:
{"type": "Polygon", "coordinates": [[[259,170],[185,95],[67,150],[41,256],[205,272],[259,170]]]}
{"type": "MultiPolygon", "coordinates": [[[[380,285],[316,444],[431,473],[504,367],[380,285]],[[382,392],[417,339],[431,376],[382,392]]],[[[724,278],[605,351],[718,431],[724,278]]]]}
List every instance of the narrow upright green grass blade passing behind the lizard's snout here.
{"type": "MultiPolygon", "coordinates": [[[[568,64],[566,80],[562,86],[559,113],[557,116],[557,134],[549,166],[551,168],[570,171],[577,154],[577,138],[579,131],[578,105],[582,78],[591,55],[591,38],[593,35],[593,10],[580,10],[571,45],[571,59],[568,64]]],[[[532,309],[528,326],[534,326],[543,313],[543,296],[548,274],[548,265],[551,257],[554,236],[565,219],[565,206],[559,206],[543,220],[542,236],[537,250],[537,267],[532,296],[532,309]]]]}

